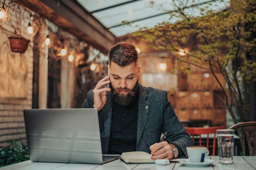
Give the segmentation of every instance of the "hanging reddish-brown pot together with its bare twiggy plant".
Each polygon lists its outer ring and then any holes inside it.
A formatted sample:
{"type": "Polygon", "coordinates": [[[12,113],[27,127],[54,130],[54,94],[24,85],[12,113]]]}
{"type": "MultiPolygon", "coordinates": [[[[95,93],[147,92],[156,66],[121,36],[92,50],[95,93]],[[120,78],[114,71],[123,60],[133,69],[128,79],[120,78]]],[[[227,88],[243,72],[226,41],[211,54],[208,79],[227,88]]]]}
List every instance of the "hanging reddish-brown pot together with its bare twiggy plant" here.
{"type": "Polygon", "coordinates": [[[9,37],[11,51],[25,53],[39,28],[39,17],[18,1],[0,4],[0,29],[9,37]]]}

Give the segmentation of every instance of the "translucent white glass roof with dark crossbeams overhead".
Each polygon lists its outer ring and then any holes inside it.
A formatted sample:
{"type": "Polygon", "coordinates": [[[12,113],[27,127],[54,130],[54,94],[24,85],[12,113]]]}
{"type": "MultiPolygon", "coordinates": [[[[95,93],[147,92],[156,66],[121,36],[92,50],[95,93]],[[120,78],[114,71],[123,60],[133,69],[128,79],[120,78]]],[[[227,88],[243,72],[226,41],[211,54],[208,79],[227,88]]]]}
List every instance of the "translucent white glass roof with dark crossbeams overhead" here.
{"type": "Polygon", "coordinates": [[[200,16],[200,9],[191,8],[200,4],[201,8],[209,6],[216,12],[229,7],[229,0],[155,0],[154,8],[150,7],[152,0],[77,0],[103,26],[116,37],[133,33],[140,27],[154,27],[158,23],[169,21],[175,23],[180,18],[170,18],[168,11],[176,11],[173,4],[186,3],[184,11],[192,16],[200,16]],[[173,2],[174,1],[174,2],[173,2]],[[122,21],[132,24],[124,25],[122,21]]]}

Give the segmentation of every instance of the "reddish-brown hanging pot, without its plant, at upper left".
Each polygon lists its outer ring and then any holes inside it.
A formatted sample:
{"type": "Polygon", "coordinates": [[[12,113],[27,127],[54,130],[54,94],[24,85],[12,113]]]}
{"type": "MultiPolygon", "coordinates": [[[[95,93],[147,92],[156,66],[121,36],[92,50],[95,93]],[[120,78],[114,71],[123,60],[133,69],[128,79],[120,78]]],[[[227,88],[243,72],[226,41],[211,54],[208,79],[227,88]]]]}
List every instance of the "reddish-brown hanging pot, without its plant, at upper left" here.
{"type": "Polygon", "coordinates": [[[9,37],[11,51],[18,53],[25,53],[29,46],[29,40],[23,37],[9,37]]]}

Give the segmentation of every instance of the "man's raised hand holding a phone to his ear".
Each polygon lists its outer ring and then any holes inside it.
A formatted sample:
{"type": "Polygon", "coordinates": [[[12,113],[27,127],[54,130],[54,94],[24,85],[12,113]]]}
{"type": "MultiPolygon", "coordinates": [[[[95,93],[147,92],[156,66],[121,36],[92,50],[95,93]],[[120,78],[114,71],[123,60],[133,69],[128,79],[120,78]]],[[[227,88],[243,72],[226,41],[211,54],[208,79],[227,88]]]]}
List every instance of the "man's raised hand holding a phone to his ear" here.
{"type": "Polygon", "coordinates": [[[106,94],[108,93],[108,91],[111,91],[110,88],[102,88],[106,84],[110,83],[110,81],[109,80],[107,81],[107,80],[108,80],[108,76],[101,79],[92,91],[93,97],[94,97],[93,107],[96,108],[98,111],[101,110],[103,106],[106,104],[107,102],[106,94]]]}

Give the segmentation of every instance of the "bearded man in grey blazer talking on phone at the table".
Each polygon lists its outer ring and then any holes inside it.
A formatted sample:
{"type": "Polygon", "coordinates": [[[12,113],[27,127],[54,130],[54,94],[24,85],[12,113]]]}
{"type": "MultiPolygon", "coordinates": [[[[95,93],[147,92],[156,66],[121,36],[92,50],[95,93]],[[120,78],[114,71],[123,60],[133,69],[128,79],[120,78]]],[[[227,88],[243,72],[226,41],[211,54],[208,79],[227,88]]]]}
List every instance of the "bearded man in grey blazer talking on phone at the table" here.
{"type": "Polygon", "coordinates": [[[83,108],[96,108],[103,154],[144,151],[151,159],[187,157],[193,141],[167,99],[167,92],[138,83],[141,66],[135,46],[115,44],[108,76],[88,92],[83,108]],[[105,87],[107,84],[110,88],[105,87]],[[166,132],[166,141],[160,141],[166,132]]]}

